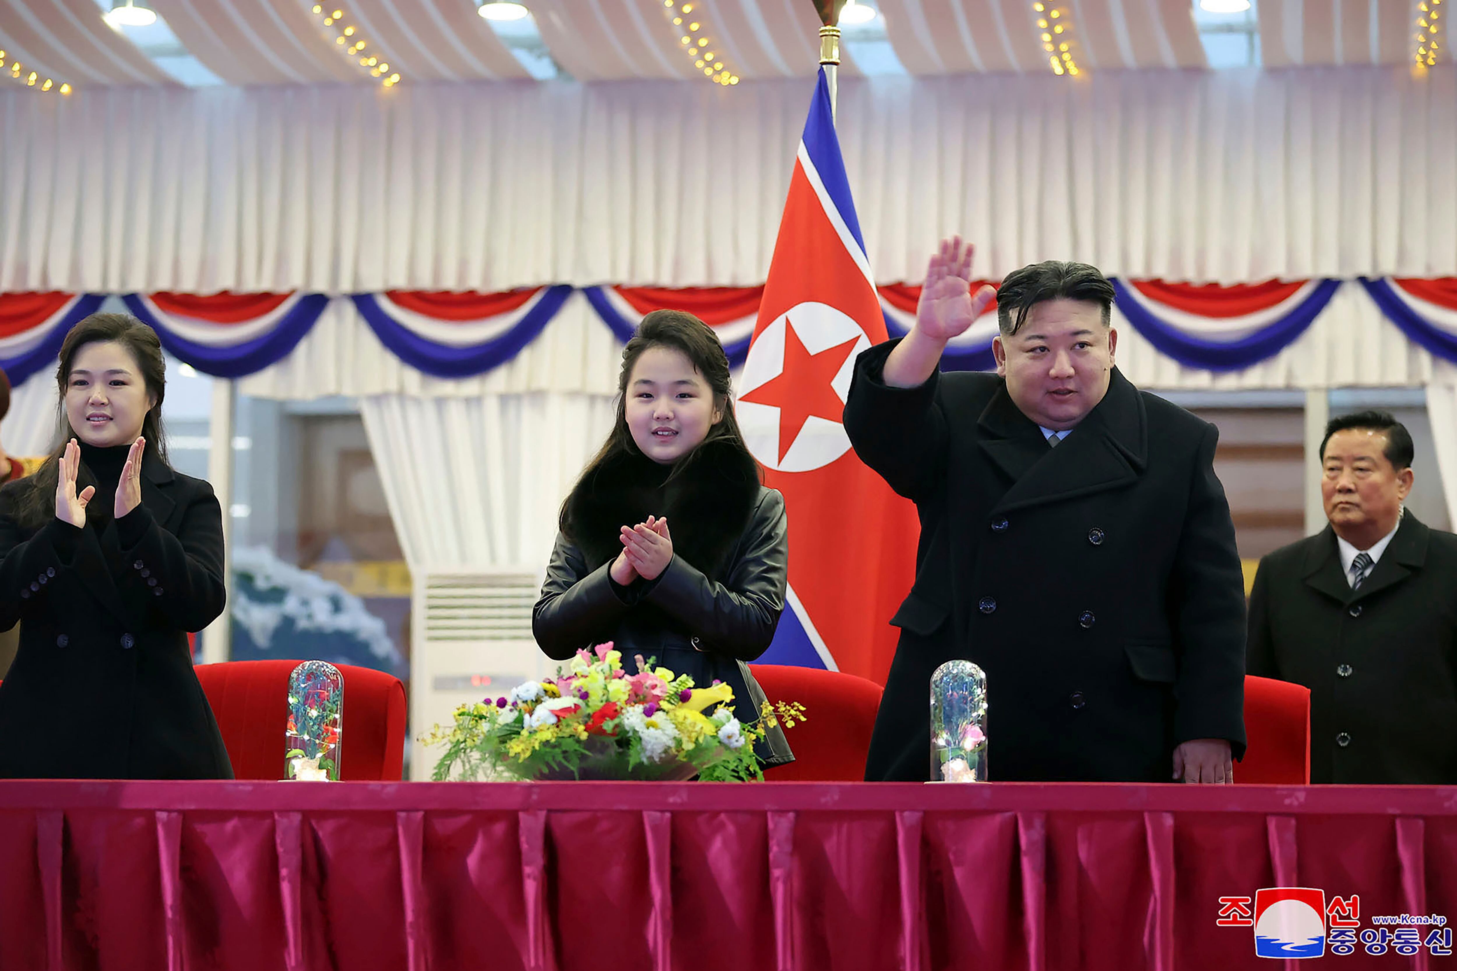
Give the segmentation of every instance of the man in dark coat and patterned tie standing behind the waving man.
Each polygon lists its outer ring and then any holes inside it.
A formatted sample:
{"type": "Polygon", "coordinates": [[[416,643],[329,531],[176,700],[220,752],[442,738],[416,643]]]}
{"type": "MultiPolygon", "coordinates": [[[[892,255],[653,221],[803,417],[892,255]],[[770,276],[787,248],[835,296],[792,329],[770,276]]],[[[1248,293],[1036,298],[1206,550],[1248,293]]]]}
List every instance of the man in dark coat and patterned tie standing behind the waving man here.
{"type": "Polygon", "coordinates": [[[1310,689],[1311,782],[1457,785],[1457,536],[1403,512],[1412,456],[1386,412],[1332,419],[1330,524],[1254,575],[1249,671],[1310,689]]]}

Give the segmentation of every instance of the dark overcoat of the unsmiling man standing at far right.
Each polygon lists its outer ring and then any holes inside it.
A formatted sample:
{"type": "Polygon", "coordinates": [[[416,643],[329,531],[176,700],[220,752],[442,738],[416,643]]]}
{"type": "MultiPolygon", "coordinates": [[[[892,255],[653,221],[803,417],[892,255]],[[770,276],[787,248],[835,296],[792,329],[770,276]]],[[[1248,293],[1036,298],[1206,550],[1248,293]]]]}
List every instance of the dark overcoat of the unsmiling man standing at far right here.
{"type": "Polygon", "coordinates": [[[1407,512],[1358,590],[1336,533],[1260,560],[1249,671],[1310,689],[1310,780],[1457,785],[1457,536],[1407,512]]]}

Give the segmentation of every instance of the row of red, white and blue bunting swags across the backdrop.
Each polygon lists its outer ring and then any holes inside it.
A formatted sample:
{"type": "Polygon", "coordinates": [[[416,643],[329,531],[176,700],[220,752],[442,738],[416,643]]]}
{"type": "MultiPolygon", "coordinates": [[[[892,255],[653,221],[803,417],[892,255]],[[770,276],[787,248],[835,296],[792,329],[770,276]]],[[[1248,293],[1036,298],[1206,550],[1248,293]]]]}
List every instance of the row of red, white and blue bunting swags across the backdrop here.
{"type": "MultiPolygon", "coordinates": [[[[1381,313],[1413,344],[1457,364],[1457,278],[1359,280],[1381,313]]],[[[1343,285],[1339,280],[1192,285],[1115,280],[1115,314],[1160,354],[1189,368],[1237,371],[1269,360],[1310,328],[1343,285]]],[[[877,287],[886,328],[900,336],[915,322],[919,287],[877,287]]],[[[514,358],[573,296],[570,285],[507,293],[386,291],[354,294],[354,307],[385,348],[425,374],[479,376],[514,358]]],[[[762,287],[664,290],[586,287],[597,319],[627,341],[644,314],[676,309],[714,328],[730,362],[747,352],[762,287]]],[[[93,313],[103,294],[0,294],[0,367],[12,384],[51,367],[66,332],[93,313]]],[[[149,323],[178,360],[214,377],[245,377],[275,364],[299,345],[331,298],[323,294],[127,294],[127,307],[149,323]]],[[[944,370],[991,370],[995,303],[953,341],[944,370]]]]}

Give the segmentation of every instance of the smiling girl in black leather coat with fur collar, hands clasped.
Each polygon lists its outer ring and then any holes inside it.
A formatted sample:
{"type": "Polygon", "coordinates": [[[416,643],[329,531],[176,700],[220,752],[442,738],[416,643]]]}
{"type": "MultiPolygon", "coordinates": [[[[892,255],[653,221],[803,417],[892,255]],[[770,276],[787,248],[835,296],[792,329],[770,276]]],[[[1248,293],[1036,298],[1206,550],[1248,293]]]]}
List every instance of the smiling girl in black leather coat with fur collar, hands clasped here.
{"type": "MultiPolygon", "coordinates": [[[[784,610],[788,527],[730,393],[708,325],[680,310],[643,317],[622,349],[616,427],[561,507],[532,630],[557,661],[612,641],[629,673],[643,655],[695,684],[724,681],[752,724],[765,697],[746,662],[784,610]]],[[[756,754],[794,760],[779,728],[756,754]]]]}

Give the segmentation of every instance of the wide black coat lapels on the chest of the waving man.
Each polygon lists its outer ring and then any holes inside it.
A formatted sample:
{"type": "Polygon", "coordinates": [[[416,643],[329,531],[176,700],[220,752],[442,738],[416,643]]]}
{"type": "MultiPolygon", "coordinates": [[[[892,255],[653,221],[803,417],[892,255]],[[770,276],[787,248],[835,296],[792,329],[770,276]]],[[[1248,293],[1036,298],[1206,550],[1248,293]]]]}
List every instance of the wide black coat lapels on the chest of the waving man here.
{"type": "Polygon", "coordinates": [[[991,434],[982,448],[1013,479],[998,512],[1132,485],[1147,464],[1144,403],[1116,368],[1107,395],[1056,448],[1021,413],[1005,384],[979,424],[991,434]]]}

